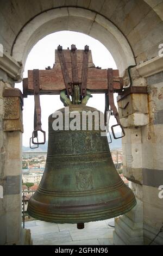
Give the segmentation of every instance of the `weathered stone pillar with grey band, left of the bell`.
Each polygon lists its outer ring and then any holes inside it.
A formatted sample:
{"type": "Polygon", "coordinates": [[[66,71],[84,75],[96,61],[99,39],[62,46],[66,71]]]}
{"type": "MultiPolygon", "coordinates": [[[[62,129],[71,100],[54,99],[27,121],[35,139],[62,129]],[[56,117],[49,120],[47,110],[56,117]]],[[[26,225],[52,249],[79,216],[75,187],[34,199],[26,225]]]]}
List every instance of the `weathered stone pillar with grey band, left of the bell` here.
{"type": "Polygon", "coordinates": [[[4,88],[11,86],[0,81],[0,245],[17,245],[26,240],[22,229],[22,131],[4,129],[4,88]]]}

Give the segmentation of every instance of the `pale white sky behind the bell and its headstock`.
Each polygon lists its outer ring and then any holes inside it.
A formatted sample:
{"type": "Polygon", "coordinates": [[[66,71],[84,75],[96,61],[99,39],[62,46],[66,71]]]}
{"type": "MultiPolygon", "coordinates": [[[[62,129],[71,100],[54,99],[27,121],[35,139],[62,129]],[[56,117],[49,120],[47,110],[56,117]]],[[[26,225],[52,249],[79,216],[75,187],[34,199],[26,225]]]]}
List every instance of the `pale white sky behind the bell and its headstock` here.
{"type": "MultiPolygon", "coordinates": [[[[99,66],[102,69],[117,69],[116,63],[110,52],[103,44],[101,44],[101,42],[82,33],[62,31],[47,35],[37,42],[28,54],[23,77],[28,77],[28,70],[45,69],[47,66],[51,66],[52,68],[55,62],[55,49],[57,49],[58,45],[61,45],[63,49],[67,49],[67,47],[71,48],[72,44],[75,44],[78,50],[83,50],[85,45],[89,45],[95,66],[99,66]]],[[[16,83],[15,87],[22,90],[22,82],[16,83]]],[[[114,95],[114,97],[116,103],[116,95],[114,95]]],[[[49,115],[64,106],[60,101],[59,95],[41,95],[40,102],[42,130],[46,131],[47,138],[49,115]]],[[[104,112],[104,94],[93,94],[93,97],[89,99],[87,106],[95,107],[104,112]]],[[[34,96],[28,96],[27,98],[24,98],[23,106],[23,145],[26,147],[29,147],[29,139],[32,136],[33,118],[34,96]]],[[[114,117],[110,118],[110,127],[112,124],[116,124],[114,117]]]]}

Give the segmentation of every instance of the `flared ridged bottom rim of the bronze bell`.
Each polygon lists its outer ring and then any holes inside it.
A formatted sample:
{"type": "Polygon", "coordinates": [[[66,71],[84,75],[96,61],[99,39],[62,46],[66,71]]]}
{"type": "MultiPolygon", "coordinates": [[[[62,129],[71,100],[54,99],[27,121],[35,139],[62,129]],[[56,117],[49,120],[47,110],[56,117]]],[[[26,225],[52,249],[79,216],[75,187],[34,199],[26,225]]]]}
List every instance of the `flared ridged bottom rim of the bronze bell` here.
{"type": "MultiPolygon", "coordinates": [[[[37,202],[34,198],[32,198],[32,200],[33,200],[32,204],[35,204],[34,201],[37,202]]],[[[40,202],[37,202],[35,205],[37,204],[40,204],[40,202]]],[[[83,205],[80,205],[79,212],[74,213],[73,209],[71,209],[72,210],[71,213],[68,211],[66,212],[66,206],[65,206],[65,209],[64,209],[65,213],[59,212],[57,214],[57,213],[54,213],[54,209],[53,209],[53,213],[48,212],[46,210],[45,212],[43,212],[42,207],[41,207],[41,210],[39,211],[38,208],[34,208],[30,204],[30,202],[28,204],[27,211],[30,216],[42,221],[53,222],[53,223],[79,223],[79,222],[85,223],[85,222],[101,221],[101,220],[107,220],[113,217],[118,217],[120,215],[126,214],[128,211],[133,209],[135,205],[136,205],[136,199],[133,194],[133,196],[131,197],[131,200],[127,204],[122,203],[121,205],[118,205],[117,207],[113,208],[112,206],[110,206],[110,201],[108,204],[106,204],[106,202],[103,202],[100,206],[98,204],[91,205],[91,210],[86,209],[86,211],[82,212],[82,214],[80,210],[83,208],[83,205]],[[97,206],[99,209],[97,209],[97,206]]],[[[90,208],[90,205],[89,205],[89,208],[90,208]]],[[[70,210],[70,205],[67,205],[67,209],[70,210]]],[[[74,209],[76,209],[76,206],[74,206],[74,209]]]]}

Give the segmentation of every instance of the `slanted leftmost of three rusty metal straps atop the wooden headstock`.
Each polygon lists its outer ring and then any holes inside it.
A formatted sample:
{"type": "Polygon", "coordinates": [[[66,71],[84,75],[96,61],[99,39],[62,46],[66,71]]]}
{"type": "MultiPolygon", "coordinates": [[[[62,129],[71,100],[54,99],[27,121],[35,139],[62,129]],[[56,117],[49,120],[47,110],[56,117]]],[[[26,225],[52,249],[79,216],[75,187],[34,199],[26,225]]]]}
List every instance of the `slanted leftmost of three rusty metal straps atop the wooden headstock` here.
{"type": "Polygon", "coordinates": [[[68,75],[65,56],[62,51],[62,46],[59,45],[57,49],[58,49],[58,57],[60,60],[61,70],[62,70],[62,74],[64,76],[65,86],[66,86],[66,90],[67,90],[67,96],[70,96],[73,93],[72,92],[72,82],[70,81],[70,77],[68,75]]]}

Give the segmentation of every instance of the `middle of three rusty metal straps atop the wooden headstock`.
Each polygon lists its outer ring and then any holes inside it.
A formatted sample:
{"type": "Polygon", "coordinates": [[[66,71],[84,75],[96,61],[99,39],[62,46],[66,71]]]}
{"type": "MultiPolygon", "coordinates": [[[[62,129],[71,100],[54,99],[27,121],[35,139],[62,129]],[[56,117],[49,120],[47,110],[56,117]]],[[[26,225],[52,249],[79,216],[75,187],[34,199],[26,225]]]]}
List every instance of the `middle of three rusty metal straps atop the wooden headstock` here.
{"type": "Polygon", "coordinates": [[[73,85],[79,85],[77,52],[76,52],[76,50],[77,50],[76,45],[71,45],[71,63],[72,63],[73,85]]]}

